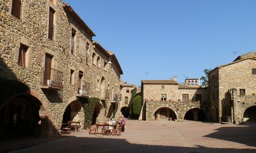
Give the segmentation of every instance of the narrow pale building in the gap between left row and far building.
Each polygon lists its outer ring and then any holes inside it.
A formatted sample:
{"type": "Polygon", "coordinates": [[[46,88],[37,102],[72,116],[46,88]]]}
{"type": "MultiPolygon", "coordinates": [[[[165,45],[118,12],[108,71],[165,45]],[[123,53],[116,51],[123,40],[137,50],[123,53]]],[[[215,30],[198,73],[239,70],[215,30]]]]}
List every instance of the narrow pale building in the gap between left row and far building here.
{"type": "Polygon", "coordinates": [[[135,84],[121,84],[121,101],[120,101],[120,108],[124,117],[128,117],[130,115],[130,99],[132,98],[132,90],[135,89],[135,84]]]}

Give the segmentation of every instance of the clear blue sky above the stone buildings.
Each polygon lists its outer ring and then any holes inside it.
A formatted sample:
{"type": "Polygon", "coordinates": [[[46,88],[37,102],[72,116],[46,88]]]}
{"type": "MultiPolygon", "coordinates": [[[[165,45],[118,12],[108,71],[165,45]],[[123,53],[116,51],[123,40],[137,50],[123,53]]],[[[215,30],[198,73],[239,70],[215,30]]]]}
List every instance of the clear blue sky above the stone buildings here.
{"type": "Polygon", "coordinates": [[[255,0],[64,1],[115,52],[129,84],[201,78],[256,51],[255,0]]]}

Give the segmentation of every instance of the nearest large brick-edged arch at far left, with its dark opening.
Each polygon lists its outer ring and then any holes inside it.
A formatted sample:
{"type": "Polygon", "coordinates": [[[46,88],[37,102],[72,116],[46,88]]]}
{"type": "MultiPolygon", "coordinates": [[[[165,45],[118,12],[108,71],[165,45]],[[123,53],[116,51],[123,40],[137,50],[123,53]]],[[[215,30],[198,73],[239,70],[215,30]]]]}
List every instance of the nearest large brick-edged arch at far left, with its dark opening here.
{"type": "Polygon", "coordinates": [[[9,135],[9,130],[15,137],[27,135],[49,137],[57,132],[49,130],[50,127],[54,129],[55,126],[51,124],[46,100],[35,90],[9,98],[1,107],[1,112],[0,129],[1,132],[4,131],[4,135],[9,135]],[[15,131],[19,132],[15,133],[15,131]]]}

